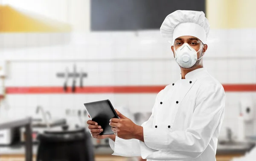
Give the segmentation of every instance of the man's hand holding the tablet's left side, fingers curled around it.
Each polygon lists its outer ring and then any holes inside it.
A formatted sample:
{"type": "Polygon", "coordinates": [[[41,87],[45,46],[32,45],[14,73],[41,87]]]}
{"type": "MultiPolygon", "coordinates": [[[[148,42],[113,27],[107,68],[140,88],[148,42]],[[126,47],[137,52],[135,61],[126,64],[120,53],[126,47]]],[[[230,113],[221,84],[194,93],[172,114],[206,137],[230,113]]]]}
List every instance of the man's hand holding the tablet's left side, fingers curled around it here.
{"type": "MultiPolygon", "coordinates": [[[[90,118],[90,116],[89,116],[89,118],[90,118]]],[[[90,129],[90,134],[93,138],[96,138],[96,139],[111,138],[112,140],[113,140],[113,138],[115,138],[114,134],[112,134],[112,135],[99,135],[103,131],[103,129],[95,121],[88,120],[87,124],[89,125],[88,128],[90,129]]]]}

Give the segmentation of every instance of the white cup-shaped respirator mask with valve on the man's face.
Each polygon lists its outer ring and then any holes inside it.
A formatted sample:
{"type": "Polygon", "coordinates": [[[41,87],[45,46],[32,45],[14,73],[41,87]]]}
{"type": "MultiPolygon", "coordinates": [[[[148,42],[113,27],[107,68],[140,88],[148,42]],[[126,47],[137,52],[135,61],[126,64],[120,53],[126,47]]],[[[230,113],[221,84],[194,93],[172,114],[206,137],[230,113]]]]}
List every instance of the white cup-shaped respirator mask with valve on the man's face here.
{"type": "Polygon", "coordinates": [[[190,68],[191,66],[195,65],[197,60],[200,60],[203,57],[201,56],[201,58],[197,59],[197,53],[201,49],[195,51],[195,49],[189,46],[188,43],[184,43],[177,50],[175,50],[174,48],[175,60],[179,64],[179,66],[183,68],[190,68]]]}

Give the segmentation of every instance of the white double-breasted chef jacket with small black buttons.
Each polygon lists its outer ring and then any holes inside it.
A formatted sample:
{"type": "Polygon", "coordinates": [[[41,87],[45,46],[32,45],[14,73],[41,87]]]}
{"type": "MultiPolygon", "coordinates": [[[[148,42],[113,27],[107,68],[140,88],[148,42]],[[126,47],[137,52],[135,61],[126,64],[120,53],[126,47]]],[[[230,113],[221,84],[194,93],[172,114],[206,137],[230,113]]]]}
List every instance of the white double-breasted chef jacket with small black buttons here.
{"type": "Polygon", "coordinates": [[[142,124],[144,142],[109,139],[112,155],[148,161],[215,161],[224,106],[221,83],[207,69],[195,69],[157,94],[152,115],[142,124]]]}

